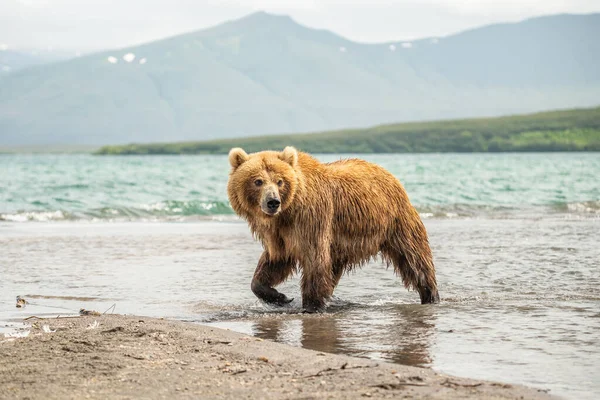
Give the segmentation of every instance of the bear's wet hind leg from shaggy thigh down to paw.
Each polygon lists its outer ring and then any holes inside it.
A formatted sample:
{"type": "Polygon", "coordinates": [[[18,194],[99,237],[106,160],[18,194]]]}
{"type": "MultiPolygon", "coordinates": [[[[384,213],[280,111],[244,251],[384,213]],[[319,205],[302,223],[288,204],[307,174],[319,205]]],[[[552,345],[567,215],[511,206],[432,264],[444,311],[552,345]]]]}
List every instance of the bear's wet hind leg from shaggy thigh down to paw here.
{"type": "Polygon", "coordinates": [[[404,286],[419,292],[421,304],[439,303],[427,231],[414,208],[406,218],[398,221],[383,254],[393,264],[394,271],[402,278],[404,286]]]}

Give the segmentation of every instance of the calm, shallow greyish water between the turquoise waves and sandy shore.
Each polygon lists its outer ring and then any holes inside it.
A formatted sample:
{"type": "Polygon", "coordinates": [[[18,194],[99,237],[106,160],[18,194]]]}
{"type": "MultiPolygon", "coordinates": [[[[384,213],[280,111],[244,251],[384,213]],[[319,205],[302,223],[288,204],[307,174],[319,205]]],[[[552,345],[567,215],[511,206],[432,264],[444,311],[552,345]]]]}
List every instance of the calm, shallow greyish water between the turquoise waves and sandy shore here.
{"type": "MultiPolygon", "coordinates": [[[[249,290],[260,246],[243,223],[4,223],[0,320],[79,308],[178,318],[333,353],[600,393],[600,221],[430,219],[442,303],[422,306],[373,263],[324,315],[249,290]],[[31,304],[15,308],[15,296],[31,304]]],[[[297,279],[281,289],[299,298],[297,279]]]]}

